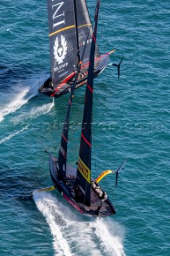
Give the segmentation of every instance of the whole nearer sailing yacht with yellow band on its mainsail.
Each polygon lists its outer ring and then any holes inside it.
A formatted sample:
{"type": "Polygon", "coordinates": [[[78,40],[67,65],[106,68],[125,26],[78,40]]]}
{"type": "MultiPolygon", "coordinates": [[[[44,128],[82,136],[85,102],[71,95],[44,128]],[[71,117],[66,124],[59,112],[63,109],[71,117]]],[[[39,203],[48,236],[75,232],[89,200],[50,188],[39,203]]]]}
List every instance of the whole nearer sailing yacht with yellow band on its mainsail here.
{"type": "MultiPolygon", "coordinates": [[[[100,0],[97,0],[93,37],[90,44],[88,78],[85,90],[85,106],[81,128],[80,150],[77,167],[69,166],[67,162],[67,148],[69,141],[69,115],[73,102],[74,90],[77,85],[77,78],[81,70],[81,60],[77,66],[77,73],[65,116],[65,122],[61,134],[61,144],[57,158],[49,154],[49,170],[53,181],[53,189],[57,189],[61,195],[81,214],[88,214],[93,217],[106,217],[115,214],[116,211],[108,194],[99,186],[97,179],[92,178],[92,119],[93,119],[93,70],[96,58],[96,36],[97,21],[100,7],[100,0]]],[[[105,174],[104,174],[105,175],[105,174]]],[[[117,173],[118,176],[118,173],[117,173]]],[[[98,181],[101,180],[101,175],[98,181]]],[[[51,190],[51,188],[49,188],[51,190]]]]}

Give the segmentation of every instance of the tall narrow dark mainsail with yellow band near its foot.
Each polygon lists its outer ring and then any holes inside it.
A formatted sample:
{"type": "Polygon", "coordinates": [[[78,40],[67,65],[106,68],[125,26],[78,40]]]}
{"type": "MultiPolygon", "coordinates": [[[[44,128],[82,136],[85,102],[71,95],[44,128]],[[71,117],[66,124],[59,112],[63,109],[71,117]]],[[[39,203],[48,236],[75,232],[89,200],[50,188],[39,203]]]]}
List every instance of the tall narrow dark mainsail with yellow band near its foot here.
{"type": "Polygon", "coordinates": [[[81,188],[85,205],[90,205],[90,182],[91,182],[91,147],[92,147],[92,118],[93,118],[93,68],[95,58],[97,22],[100,0],[97,0],[94,17],[94,30],[89,57],[89,72],[85,91],[85,108],[81,129],[81,143],[77,166],[77,186],[81,188]]]}

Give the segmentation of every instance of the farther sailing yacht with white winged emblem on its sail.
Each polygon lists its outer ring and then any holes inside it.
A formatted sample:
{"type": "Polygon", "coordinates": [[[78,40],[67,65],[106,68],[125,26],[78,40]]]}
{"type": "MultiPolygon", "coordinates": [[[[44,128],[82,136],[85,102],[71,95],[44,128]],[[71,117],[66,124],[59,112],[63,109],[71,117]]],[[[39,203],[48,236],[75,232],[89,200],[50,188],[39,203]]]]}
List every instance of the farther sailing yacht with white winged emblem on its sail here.
{"type": "MultiPolygon", "coordinates": [[[[51,75],[39,92],[57,98],[70,91],[80,60],[75,89],[87,82],[93,27],[85,0],[47,0],[47,9],[51,75]]],[[[94,78],[105,69],[114,51],[101,55],[97,42],[95,45],[94,78]]]]}

